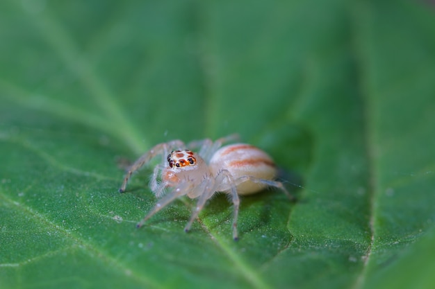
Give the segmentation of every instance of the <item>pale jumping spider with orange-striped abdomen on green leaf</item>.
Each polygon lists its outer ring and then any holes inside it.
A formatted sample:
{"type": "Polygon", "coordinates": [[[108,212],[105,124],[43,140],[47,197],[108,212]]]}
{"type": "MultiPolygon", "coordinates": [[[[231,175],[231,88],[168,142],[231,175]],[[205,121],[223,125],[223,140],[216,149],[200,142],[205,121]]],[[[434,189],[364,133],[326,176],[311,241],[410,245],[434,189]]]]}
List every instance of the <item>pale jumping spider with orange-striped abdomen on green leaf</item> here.
{"type": "Polygon", "coordinates": [[[231,196],[234,205],[233,239],[238,240],[239,195],[258,193],[272,186],[281,189],[290,200],[293,200],[293,195],[288,193],[284,185],[274,180],[277,176],[277,168],[271,157],[263,150],[246,143],[235,143],[222,147],[223,143],[236,139],[238,136],[233,134],[214,142],[211,139],[193,141],[187,146],[183,141],[174,140],[159,143],[145,152],[129,168],[119,190],[120,193],[125,191],[132,173],[154,157],[163,156],[161,164],[154,168],[149,184],[151,191],[160,200],[138,223],[137,227],[142,227],[151,216],[176,198],[187,195],[189,198],[197,199],[197,204],[184,228],[184,231],[188,232],[206,200],[216,192],[224,192],[231,196]],[[186,148],[199,149],[199,152],[195,153],[186,148]]]}

